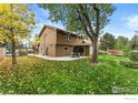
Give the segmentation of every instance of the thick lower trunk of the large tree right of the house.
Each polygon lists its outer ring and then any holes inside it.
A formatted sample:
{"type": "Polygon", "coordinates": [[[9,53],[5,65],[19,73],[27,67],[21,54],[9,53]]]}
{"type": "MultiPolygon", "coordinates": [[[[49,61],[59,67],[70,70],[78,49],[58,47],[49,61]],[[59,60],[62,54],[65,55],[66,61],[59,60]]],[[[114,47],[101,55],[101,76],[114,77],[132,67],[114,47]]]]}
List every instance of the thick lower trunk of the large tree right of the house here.
{"type": "Polygon", "coordinates": [[[92,59],[91,64],[98,64],[98,38],[92,42],[92,59]]]}

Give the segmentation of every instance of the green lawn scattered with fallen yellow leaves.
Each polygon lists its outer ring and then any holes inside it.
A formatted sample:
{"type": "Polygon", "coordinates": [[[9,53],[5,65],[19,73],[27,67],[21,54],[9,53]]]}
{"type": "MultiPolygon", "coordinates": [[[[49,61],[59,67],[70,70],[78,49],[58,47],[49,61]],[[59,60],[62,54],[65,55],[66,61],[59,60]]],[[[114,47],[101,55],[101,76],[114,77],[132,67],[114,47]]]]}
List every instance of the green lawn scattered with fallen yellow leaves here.
{"type": "Polygon", "coordinates": [[[18,58],[11,66],[6,58],[0,63],[1,94],[138,94],[138,70],[118,63],[124,56],[100,55],[93,68],[89,59],[70,62],[18,58]]]}

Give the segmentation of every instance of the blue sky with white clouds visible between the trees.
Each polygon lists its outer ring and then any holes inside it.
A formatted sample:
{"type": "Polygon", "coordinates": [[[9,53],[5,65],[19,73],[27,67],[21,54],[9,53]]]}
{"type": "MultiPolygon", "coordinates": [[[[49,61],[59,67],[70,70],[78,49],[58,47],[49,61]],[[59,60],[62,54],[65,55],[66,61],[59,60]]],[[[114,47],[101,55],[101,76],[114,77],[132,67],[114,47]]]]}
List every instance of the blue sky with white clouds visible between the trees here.
{"type": "MultiPolygon", "coordinates": [[[[138,4],[120,3],[115,4],[115,7],[117,9],[110,17],[111,21],[103,31],[109,32],[116,37],[124,35],[130,39],[135,34],[135,31],[138,30],[138,4]]],[[[61,22],[53,23],[48,20],[48,11],[39,8],[37,4],[31,4],[30,8],[36,12],[38,21],[37,28],[33,30],[33,34],[39,33],[43,24],[65,29],[61,22]]]]}

